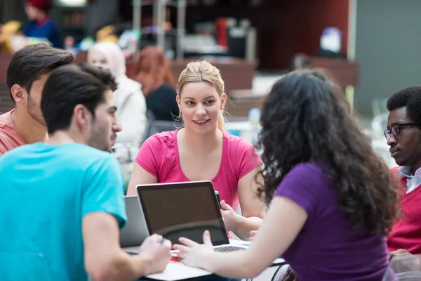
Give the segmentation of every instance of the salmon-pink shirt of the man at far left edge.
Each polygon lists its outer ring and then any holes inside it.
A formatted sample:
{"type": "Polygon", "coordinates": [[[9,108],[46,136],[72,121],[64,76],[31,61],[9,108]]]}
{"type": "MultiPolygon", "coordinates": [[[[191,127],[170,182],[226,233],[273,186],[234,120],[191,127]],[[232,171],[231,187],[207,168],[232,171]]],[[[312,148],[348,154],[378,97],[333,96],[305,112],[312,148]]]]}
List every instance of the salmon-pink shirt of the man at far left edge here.
{"type": "Polygon", "coordinates": [[[13,123],[12,112],[13,110],[0,115],[0,156],[13,148],[27,144],[22,133],[13,123]]]}

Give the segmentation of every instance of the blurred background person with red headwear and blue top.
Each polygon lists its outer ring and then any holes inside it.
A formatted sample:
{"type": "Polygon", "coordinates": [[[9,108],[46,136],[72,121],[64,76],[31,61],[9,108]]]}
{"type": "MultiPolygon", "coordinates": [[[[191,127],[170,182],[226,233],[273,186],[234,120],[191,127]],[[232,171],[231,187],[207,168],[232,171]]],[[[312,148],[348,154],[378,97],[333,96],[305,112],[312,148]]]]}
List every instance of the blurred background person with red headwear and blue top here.
{"type": "Polygon", "coordinates": [[[26,37],[46,38],[53,44],[53,47],[61,48],[60,35],[53,20],[48,18],[50,11],[50,0],[26,0],[25,12],[29,23],[22,30],[26,37]]]}

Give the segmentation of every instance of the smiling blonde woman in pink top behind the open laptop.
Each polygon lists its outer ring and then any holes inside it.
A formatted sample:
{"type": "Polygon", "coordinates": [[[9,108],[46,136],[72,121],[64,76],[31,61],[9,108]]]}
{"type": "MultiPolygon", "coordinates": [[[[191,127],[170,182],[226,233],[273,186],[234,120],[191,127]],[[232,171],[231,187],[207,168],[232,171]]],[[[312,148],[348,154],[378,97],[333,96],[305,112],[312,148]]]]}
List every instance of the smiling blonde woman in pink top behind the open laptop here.
{"type": "Polygon", "coordinates": [[[256,195],[255,175],[262,162],[253,145],[224,130],[227,101],[218,68],[206,61],[189,63],[177,83],[177,103],[185,126],[157,133],[145,141],[128,186],[182,181],[212,181],[221,198],[228,231],[248,240],[265,218],[265,204],[256,195]],[[241,205],[241,216],[235,210],[241,205]]]}

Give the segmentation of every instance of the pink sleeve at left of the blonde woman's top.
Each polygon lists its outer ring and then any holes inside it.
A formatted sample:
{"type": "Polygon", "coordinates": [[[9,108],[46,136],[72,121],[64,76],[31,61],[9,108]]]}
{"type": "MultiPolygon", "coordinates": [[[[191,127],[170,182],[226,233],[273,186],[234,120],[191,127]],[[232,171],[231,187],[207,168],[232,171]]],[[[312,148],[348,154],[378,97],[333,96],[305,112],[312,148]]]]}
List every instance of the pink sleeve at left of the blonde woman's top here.
{"type": "Polygon", "coordinates": [[[162,155],[161,141],[158,136],[154,135],[147,138],[142,144],[135,162],[152,176],[158,177],[162,155]]]}

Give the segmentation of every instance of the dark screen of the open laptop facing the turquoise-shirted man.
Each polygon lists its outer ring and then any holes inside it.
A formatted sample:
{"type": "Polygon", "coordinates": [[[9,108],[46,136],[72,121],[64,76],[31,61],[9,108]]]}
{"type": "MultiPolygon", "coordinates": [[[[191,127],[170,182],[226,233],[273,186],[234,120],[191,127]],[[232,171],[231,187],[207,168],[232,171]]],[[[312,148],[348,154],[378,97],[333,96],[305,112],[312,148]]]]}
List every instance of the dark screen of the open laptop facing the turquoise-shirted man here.
{"type": "Polygon", "coordinates": [[[150,234],[173,243],[179,237],[203,242],[209,230],[214,245],[229,243],[213,184],[206,182],[138,185],[140,204],[150,234]]]}

